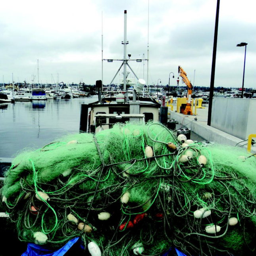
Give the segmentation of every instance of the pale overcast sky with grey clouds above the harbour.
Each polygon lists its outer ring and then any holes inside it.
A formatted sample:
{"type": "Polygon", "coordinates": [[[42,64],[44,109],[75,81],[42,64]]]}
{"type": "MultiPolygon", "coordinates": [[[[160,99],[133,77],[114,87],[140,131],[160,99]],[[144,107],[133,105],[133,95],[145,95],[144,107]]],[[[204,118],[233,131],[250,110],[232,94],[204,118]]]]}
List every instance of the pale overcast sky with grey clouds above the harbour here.
{"type": "MultiPolygon", "coordinates": [[[[149,0],[149,84],[176,85],[178,66],[196,86],[210,86],[217,0],[149,0]],[[194,70],[195,79],[194,79],[194,70]]],[[[0,83],[37,81],[95,84],[104,58],[123,58],[123,21],[127,10],[127,53],[147,57],[148,0],[22,0],[0,7],[0,83]],[[102,15],[103,13],[103,15],[102,15]],[[53,79],[52,79],[53,77],[53,79]]],[[[221,0],[215,86],[241,87],[247,42],[245,88],[256,88],[256,1],[221,0]]],[[[104,62],[109,84],[121,62],[104,62]]],[[[139,78],[143,64],[130,62],[139,78]]],[[[146,80],[146,64],[144,74],[146,80]]],[[[120,75],[115,82],[118,83],[120,75]]]]}

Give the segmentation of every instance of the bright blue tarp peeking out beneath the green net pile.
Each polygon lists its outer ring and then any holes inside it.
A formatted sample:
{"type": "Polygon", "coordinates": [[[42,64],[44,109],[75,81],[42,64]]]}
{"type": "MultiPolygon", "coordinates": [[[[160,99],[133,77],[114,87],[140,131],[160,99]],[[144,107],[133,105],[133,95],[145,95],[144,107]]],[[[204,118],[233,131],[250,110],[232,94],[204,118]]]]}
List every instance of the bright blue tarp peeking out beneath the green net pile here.
{"type": "MultiPolygon", "coordinates": [[[[72,240],[68,241],[62,248],[54,251],[52,249],[48,249],[46,245],[39,245],[28,243],[27,251],[24,252],[21,256],[63,256],[74,244],[78,244],[77,251],[74,255],[79,255],[79,252],[83,251],[83,245],[81,244],[81,240],[79,237],[75,237],[72,240]]],[[[169,256],[172,248],[162,254],[162,256],[169,256]]],[[[184,253],[180,252],[177,248],[175,248],[178,256],[186,256],[184,253]]]]}

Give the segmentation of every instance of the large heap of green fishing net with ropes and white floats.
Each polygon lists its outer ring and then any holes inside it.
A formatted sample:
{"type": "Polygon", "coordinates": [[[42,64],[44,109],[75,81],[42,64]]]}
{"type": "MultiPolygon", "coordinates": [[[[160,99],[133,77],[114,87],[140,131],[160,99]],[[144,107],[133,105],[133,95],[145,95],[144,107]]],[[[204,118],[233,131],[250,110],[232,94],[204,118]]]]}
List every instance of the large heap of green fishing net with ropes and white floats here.
{"type": "Polygon", "coordinates": [[[25,242],[57,248],[81,237],[97,256],[254,250],[255,157],[177,139],[159,123],[117,123],[23,152],[1,192],[25,242]]]}

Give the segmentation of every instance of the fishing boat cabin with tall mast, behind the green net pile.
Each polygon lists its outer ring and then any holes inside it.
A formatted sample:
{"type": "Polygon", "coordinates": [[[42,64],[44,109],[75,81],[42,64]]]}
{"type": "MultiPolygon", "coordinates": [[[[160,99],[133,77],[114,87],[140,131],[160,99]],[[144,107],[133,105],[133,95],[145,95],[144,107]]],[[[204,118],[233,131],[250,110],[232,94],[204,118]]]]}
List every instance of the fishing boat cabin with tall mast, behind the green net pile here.
{"type": "MultiPolygon", "coordinates": [[[[146,82],[144,79],[139,79],[137,75],[133,72],[133,69],[128,63],[132,60],[131,54],[127,54],[127,11],[124,11],[124,40],[122,42],[124,46],[123,59],[119,60],[122,62],[121,67],[123,67],[123,79],[120,81],[120,86],[117,90],[110,90],[113,85],[113,81],[119,70],[117,71],[115,77],[109,83],[109,87],[102,91],[102,81],[96,81],[96,87],[98,89],[98,101],[91,103],[89,105],[84,105],[84,108],[90,108],[89,119],[88,119],[88,130],[92,133],[98,133],[104,129],[111,128],[117,122],[126,121],[142,121],[147,122],[149,120],[158,121],[160,104],[156,102],[147,92],[144,92],[146,88],[146,82]],[[129,71],[134,74],[136,81],[132,81],[128,78],[129,71]],[[132,90],[129,90],[129,88],[132,90]]],[[[102,49],[103,52],[103,49],[102,49]]],[[[102,53],[102,61],[103,61],[102,53]]],[[[139,60],[141,62],[142,60],[139,60]]],[[[138,61],[137,61],[138,62],[138,61]]],[[[103,72],[103,71],[102,71],[103,72]]]]}

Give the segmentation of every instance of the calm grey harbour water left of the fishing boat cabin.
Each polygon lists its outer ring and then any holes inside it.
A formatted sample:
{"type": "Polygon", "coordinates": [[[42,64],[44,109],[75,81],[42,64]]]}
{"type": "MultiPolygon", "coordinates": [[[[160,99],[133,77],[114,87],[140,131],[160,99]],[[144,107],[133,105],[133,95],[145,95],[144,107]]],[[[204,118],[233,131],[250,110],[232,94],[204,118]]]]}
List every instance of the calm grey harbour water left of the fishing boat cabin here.
{"type": "Polygon", "coordinates": [[[0,104],[0,157],[41,148],[57,137],[79,133],[81,104],[98,96],[0,104]]]}

